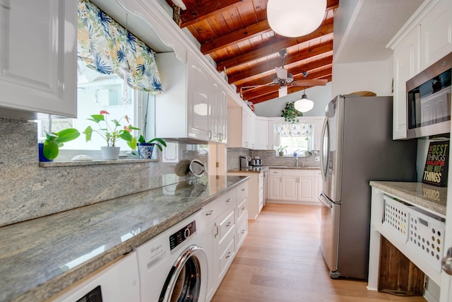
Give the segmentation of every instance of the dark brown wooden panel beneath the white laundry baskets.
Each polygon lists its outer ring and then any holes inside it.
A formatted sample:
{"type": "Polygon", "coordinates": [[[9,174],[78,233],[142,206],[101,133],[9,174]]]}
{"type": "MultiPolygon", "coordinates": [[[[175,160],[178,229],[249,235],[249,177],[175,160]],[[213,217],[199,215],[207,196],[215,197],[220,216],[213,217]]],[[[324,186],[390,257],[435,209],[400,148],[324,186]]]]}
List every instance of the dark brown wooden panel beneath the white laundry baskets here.
{"type": "Polygon", "coordinates": [[[422,296],[424,273],[381,236],[379,291],[396,296],[422,296]]]}

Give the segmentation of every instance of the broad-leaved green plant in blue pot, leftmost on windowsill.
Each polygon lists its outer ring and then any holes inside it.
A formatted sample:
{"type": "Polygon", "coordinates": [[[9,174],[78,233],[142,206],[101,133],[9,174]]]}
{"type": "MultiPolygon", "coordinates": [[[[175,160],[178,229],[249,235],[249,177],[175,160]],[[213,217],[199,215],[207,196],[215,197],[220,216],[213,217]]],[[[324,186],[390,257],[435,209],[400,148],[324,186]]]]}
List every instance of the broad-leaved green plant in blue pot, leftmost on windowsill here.
{"type": "Polygon", "coordinates": [[[68,128],[59,132],[45,132],[44,143],[39,143],[40,161],[53,161],[57,158],[59,153],[59,147],[63,146],[63,143],[73,141],[77,137],[80,137],[80,132],[74,128],[68,128]]]}

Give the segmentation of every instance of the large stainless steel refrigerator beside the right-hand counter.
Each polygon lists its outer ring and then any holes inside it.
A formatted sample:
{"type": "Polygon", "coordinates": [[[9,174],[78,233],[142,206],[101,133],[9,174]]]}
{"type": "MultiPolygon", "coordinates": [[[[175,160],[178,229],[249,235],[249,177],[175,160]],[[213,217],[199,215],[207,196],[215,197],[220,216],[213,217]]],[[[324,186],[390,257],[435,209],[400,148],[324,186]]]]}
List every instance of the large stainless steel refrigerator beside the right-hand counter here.
{"type": "Polygon", "coordinates": [[[393,141],[392,97],[338,95],[322,129],[321,251],[331,278],[367,279],[371,180],[416,181],[417,141],[393,141]]]}

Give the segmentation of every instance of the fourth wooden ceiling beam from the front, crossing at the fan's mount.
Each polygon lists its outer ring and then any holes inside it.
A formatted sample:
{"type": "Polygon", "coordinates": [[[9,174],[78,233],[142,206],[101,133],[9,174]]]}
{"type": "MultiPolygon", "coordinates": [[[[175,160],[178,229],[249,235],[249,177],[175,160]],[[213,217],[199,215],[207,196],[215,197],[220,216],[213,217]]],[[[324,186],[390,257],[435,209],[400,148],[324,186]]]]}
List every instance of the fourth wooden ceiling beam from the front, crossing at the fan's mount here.
{"type": "MultiPolygon", "coordinates": [[[[299,62],[305,59],[313,58],[319,56],[320,54],[325,54],[326,52],[333,52],[333,41],[327,41],[322,43],[316,47],[307,48],[302,50],[301,52],[297,52],[294,54],[290,54],[285,58],[285,66],[288,64],[292,64],[295,62],[299,62]]],[[[262,64],[256,64],[253,68],[246,69],[246,71],[237,72],[236,74],[228,75],[229,83],[234,83],[242,79],[249,78],[251,76],[256,76],[256,74],[262,74],[268,71],[274,71],[275,66],[281,66],[282,59],[277,57],[275,59],[268,60],[268,62],[263,62],[262,64]]],[[[285,67],[287,69],[287,67],[285,67]]],[[[292,71],[292,68],[288,69],[291,74],[294,74],[295,71],[292,71]]],[[[237,84],[236,84],[237,85],[237,84]]]]}

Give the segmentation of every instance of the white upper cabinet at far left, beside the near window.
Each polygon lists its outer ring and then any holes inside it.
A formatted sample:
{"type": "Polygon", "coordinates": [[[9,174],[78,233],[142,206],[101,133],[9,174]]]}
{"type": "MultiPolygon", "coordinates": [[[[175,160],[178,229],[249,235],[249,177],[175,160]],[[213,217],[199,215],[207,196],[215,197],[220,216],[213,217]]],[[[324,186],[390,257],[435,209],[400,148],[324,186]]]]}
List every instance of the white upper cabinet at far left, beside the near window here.
{"type": "Polygon", "coordinates": [[[77,1],[0,5],[0,115],[76,117],[77,1]]]}

